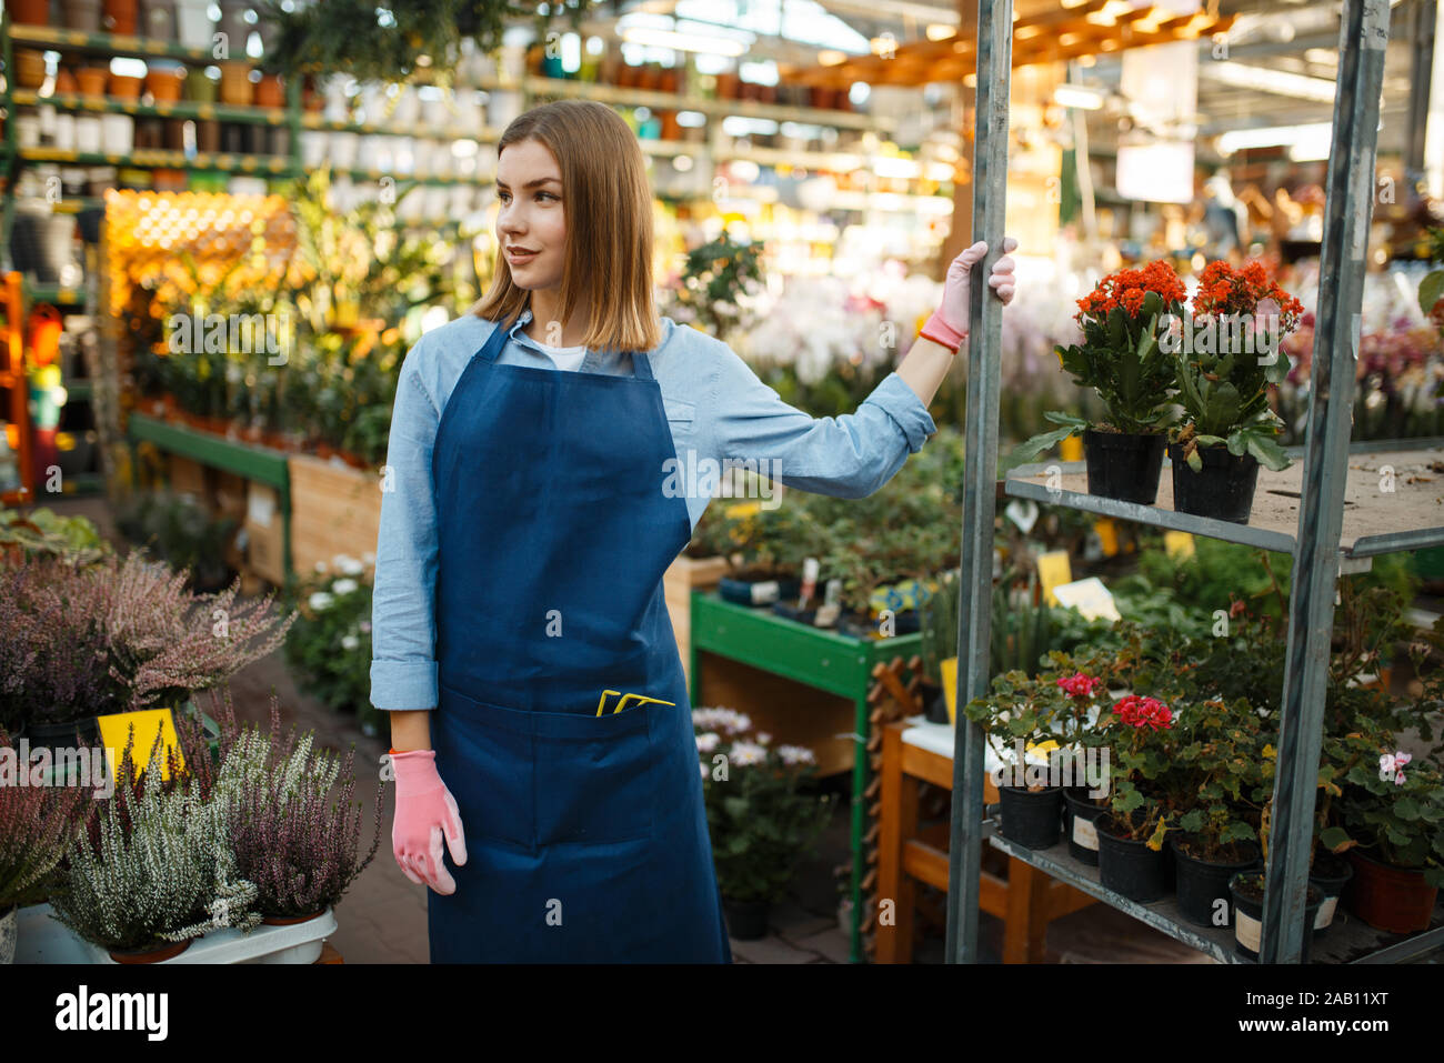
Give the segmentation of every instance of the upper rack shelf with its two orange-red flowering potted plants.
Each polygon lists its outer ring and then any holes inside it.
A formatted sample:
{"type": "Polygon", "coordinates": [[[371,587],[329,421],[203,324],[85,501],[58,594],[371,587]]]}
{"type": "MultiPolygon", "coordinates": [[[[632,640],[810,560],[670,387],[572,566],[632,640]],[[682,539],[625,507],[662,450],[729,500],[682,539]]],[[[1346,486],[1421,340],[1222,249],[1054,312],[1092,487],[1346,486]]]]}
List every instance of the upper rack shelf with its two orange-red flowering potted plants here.
{"type": "MultiPolygon", "coordinates": [[[[1058,347],[1108,419],[1048,413],[1061,428],[1021,443],[1009,495],[1108,517],[1292,552],[1302,468],[1278,445],[1271,389],[1289,371],[1279,348],[1298,302],[1264,267],[1210,263],[1184,308],[1173,269],[1149,263],[1105,277],[1079,300],[1084,341],[1058,347]],[[1084,462],[1030,462],[1071,435],[1084,462]],[[1160,480],[1164,451],[1170,477],[1160,480]],[[1259,467],[1264,468],[1259,468],[1259,467]]],[[[1297,448],[1295,454],[1298,452],[1297,448]]],[[[1438,441],[1352,448],[1340,553],[1365,559],[1444,543],[1431,477],[1438,441]]]]}

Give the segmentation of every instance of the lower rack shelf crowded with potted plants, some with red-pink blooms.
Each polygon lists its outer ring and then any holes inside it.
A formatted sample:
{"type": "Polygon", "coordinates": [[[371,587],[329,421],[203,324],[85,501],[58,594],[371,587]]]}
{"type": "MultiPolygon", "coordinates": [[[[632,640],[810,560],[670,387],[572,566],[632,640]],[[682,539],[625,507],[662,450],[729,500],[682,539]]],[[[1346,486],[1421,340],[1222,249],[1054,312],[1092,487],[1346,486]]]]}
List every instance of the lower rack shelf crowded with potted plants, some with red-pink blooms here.
{"type": "MultiPolygon", "coordinates": [[[[1409,650],[1418,674],[1430,676],[1422,696],[1395,703],[1382,686],[1362,680],[1373,654],[1405,630],[1406,598],[1350,583],[1343,604],[1318,771],[1310,856],[1317,894],[1307,910],[1305,962],[1383,962],[1444,940],[1444,904],[1437,904],[1444,744],[1427,748],[1441,680],[1437,667],[1421,667],[1444,648],[1444,628],[1432,646],[1409,650]],[[1398,748],[1406,734],[1422,734],[1412,755],[1398,748]],[[1372,856],[1360,852],[1366,845],[1372,856]],[[1367,888],[1350,888],[1359,874],[1367,888]],[[1380,878],[1409,890],[1408,904],[1395,906],[1380,878]]],[[[998,752],[1022,739],[1030,763],[1035,750],[1057,748],[1061,763],[1076,765],[1073,789],[1041,778],[1002,786],[992,845],[1219,962],[1238,963],[1253,962],[1259,947],[1262,894],[1258,880],[1242,880],[1258,875],[1268,856],[1279,745],[1278,698],[1258,692],[1282,687],[1285,644],[1275,624],[1242,599],[1229,624],[1225,637],[1178,637],[1125,622],[1121,650],[1050,654],[1037,676],[995,677],[966,713],[998,752]],[[1087,763],[1084,786],[1082,758],[1102,750],[1110,757],[1087,763]],[[1090,791],[1100,780],[1106,786],[1090,791]]]]}

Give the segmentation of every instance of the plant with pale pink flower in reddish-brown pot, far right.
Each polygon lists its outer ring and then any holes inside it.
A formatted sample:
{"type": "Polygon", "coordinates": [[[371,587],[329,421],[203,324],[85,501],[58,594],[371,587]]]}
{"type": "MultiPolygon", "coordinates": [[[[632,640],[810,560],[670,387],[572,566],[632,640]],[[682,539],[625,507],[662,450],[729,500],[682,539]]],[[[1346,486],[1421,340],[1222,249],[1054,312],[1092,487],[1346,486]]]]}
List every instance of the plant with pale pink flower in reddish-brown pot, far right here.
{"type": "Polygon", "coordinates": [[[1320,842],[1349,854],[1344,897],[1356,916],[1392,933],[1425,930],[1444,884],[1444,773],[1396,748],[1391,734],[1344,741],[1373,763],[1362,760],[1341,777],[1336,823],[1320,842]]]}

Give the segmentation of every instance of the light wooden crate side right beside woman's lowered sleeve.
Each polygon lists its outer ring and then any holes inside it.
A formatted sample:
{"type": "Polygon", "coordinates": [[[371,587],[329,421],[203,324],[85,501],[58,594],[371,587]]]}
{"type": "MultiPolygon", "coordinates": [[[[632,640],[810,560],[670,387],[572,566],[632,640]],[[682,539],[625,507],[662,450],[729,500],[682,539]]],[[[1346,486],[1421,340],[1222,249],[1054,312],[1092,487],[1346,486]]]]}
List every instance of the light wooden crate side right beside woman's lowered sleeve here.
{"type": "Polygon", "coordinates": [[[375,552],[381,529],[381,480],[342,462],[293,455],[290,471],[290,563],[296,575],[331,565],[338,553],[375,552]]]}

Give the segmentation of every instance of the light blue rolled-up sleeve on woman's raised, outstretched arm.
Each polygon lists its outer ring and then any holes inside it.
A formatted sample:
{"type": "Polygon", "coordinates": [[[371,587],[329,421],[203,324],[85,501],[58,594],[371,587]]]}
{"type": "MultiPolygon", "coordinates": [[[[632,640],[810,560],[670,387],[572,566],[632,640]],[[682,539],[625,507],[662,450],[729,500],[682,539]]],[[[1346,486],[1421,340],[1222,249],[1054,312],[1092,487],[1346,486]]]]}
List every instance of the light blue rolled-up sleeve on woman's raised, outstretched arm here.
{"type": "Polygon", "coordinates": [[[709,409],[719,461],[767,461],[788,487],[865,498],[937,432],[917,393],[890,373],[855,413],[813,417],[783,402],[731,348],[721,354],[709,409]]]}

